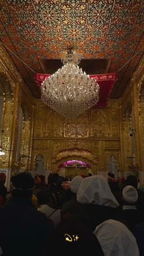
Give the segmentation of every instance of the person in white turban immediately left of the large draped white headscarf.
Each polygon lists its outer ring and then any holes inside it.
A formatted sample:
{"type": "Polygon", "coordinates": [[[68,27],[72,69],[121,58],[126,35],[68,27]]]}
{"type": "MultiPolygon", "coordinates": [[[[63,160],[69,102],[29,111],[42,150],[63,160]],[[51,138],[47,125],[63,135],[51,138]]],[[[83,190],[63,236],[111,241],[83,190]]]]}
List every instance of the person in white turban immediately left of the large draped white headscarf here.
{"type": "Polygon", "coordinates": [[[79,189],[79,186],[81,185],[82,180],[83,180],[83,178],[79,175],[75,176],[71,180],[70,190],[71,190],[71,192],[72,192],[71,194],[73,194],[73,196],[70,200],[68,200],[68,202],[63,203],[63,205],[61,207],[61,217],[62,218],[67,213],[74,214],[74,213],[77,213],[77,211],[79,211],[79,207],[81,207],[81,205],[76,200],[76,194],[79,189]]]}

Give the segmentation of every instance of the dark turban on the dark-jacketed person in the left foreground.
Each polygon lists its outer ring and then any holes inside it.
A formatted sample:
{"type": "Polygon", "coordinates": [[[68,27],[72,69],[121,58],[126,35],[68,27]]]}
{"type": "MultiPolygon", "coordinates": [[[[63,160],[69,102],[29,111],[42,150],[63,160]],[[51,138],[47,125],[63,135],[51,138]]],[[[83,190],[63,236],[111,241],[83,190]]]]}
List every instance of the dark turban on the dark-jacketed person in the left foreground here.
{"type": "Polygon", "coordinates": [[[31,190],[35,186],[34,178],[32,178],[32,175],[27,172],[21,172],[20,174],[13,176],[11,181],[15,189],[31,190]]]}

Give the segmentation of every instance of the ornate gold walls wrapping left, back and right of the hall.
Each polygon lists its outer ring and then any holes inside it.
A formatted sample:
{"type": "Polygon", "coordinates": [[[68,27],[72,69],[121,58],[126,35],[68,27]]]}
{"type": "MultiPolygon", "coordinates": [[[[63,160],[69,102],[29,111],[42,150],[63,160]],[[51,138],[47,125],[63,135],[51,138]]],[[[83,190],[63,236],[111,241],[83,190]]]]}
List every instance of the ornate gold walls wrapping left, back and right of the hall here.
{"type": "Polygon", "coordinates": [[[107,170],[109,157],[114,155],[119,174],[132,171],[144,183],[144,58],[120,99],[109,99],[106,108],[92,108],[81,117],[64,119],[32,96],[1,44],[0,51],[0,97],[4,98],[1,136],[5,150],[0,156],[0,170],[6,170],[9,178],[20,169],[34,170],[35,157],[40,153],[46,170],[57,171],[63,161],[79,159],[100,174],[107,170]],[[23,128],[18,159],[20,107],[23,128]],[[129,136],[131,130],[133,137],[129,136]]]}

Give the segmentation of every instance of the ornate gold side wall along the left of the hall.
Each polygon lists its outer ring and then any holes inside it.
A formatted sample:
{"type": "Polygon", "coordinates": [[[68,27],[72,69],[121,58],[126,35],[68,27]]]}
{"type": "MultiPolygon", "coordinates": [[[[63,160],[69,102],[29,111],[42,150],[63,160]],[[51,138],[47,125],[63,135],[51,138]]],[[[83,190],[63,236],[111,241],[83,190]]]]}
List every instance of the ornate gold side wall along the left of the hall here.
{"type": "Polygon", "coordinates": [[[6,172],[7,184],[9,184],[12,171],[31,168],[34,97],[32,97],[27,85],[24,84],[23,78],[1,43],[0,53],[0,97],[3,99],[0,123],[3,132],[0,133],[0,137],[5,152],[4,156],[0,156],[0,171],[6,172]],[[20,106],[24,109],[24,119],[21,131],[20,158],[17,161],[20,106]]]}

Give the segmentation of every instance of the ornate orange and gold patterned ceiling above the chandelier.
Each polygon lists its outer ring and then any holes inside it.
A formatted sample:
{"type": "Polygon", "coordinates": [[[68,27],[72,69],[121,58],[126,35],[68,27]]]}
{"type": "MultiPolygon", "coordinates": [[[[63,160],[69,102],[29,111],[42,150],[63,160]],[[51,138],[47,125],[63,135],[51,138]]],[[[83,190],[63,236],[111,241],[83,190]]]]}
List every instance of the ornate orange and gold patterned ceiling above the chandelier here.
{"type": "MultiPolygon", "coordinates": [[[[143,0],[3,0],[0,39],[38,73],[39,59],[60,58],[70,46],[85,59],[111,59],[113,73],[143,48],[143,5],[143,0]]],[[[34,73],[11,51],[33,94],[40,96],[34,73]]],[[[118,72],[112,97],[120,97],[142,54],[118,72]]]]}

